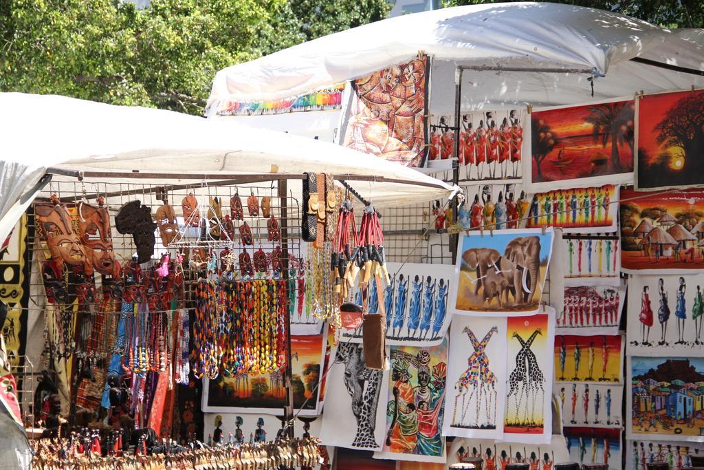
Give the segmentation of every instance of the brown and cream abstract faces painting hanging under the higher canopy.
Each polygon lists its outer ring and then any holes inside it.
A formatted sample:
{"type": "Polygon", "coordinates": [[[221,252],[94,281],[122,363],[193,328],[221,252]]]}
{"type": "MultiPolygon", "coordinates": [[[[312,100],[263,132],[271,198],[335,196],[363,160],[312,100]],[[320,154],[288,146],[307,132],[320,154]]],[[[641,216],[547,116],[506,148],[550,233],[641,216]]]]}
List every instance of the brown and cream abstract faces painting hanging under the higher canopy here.
{"type": "Polygon", "coordinates": [[[422,166],[426,154],[430,58],[419,56],[352,83],[343,145],[365,154],[422,166]]]}

